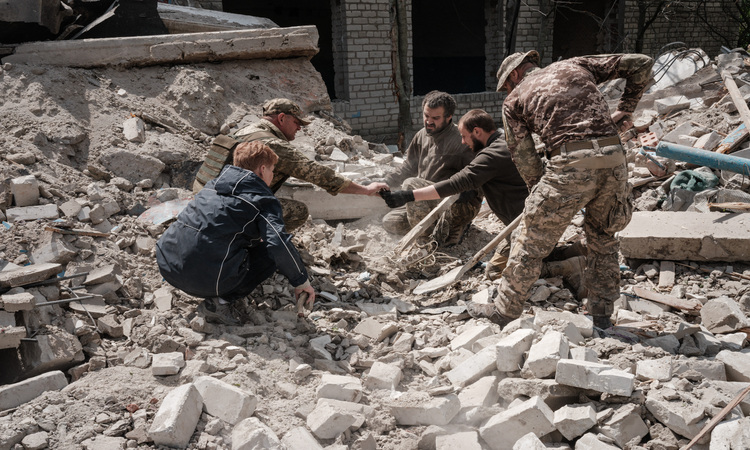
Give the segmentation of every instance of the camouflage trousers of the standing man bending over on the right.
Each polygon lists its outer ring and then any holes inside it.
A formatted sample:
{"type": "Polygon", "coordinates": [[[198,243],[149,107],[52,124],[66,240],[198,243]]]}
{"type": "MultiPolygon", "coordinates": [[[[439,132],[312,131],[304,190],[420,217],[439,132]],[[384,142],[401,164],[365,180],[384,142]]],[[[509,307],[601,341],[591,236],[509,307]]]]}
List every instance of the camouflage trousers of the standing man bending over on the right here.
{"type": "Polygon", "coordinates": [[[620,247],[614,234],[630,221],[631,189],[620,145],[578,150],[548,161],[514,232],[494,299],[498,310],[508,317],[521,315],[541,273],[543,258],[555,248],[573,216],[585,208],[588,256],[583,284],[588,289],[589,312],[612,314],[613,303],[620,296],[620,247]]]}

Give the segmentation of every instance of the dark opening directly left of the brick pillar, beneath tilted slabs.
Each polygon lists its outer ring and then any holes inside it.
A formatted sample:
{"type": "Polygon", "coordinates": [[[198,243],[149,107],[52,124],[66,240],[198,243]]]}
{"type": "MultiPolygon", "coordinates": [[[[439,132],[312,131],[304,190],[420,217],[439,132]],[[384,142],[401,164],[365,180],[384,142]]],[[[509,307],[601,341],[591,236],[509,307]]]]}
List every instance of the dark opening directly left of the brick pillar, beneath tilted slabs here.
{"type": "Polygon", "coordinates": [[[223,8],[229,13],[265,17],[280,27],[315,25],[318,29],[320,51],[310,62],[323,77],[328,95],[331,99],[336,98],[330,0],[285,0],[284,2],[223,0],[223,8]]]}

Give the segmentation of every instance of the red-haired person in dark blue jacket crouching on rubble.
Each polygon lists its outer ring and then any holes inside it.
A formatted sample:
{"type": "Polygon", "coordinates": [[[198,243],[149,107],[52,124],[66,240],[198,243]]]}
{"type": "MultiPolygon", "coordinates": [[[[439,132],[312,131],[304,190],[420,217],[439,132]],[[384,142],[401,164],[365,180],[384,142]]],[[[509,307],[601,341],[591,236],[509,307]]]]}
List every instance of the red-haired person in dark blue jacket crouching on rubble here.
{"type": "Polygon", "coordinates": [[[198,192],[156,244],[159,271],[169,284],[205,300],[207,321],[239,325],[231,304],[250,294],[276,270],[294,295],[315,291],[269,188],[278,156],[261,141],[244,142],[233,165],[198,192]]]}

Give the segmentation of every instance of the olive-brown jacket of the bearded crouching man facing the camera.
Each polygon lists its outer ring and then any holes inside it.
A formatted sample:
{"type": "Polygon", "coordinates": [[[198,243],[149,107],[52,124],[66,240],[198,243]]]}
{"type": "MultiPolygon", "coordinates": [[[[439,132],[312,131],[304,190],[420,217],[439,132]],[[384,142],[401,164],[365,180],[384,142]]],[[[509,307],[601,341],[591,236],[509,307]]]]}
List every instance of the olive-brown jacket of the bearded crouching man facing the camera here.
{"type": "Polygon", "coordinates": [[[451,123],[433,135],[422,128],[409,143],[404,164],[390,173],[385,182],[397,189],[410,177],[432,182],[446,180],[473,158],[474,153],[461,143],[461,134],[455,124],[451,123]]]}

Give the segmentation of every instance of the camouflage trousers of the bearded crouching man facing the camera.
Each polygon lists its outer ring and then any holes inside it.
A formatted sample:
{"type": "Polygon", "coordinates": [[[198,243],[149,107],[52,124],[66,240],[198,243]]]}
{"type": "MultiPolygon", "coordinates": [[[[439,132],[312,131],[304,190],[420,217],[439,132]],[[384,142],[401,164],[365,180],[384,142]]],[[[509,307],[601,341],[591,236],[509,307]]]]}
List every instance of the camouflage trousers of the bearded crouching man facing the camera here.
{"type": "MultiPolygon", "coordinates": [[[[401,184],[401,189],[413,191],[433,184],[435,183],[421,178],[407,178],[401,184]]],[[[389,233],[405,235],[439,203],[440,200],[424,200],[409,202],[405,206],[395,208],[383,217],[383,228],[389,233]]],[[[451,205],[444,213],[444,220],[438,221],[444,224],[443,229],[438,230],[438,234],[440,235],[438,236],[438,242],[445,242],[451,233],[463,232],[463,229],[474,220],[480,206],[461,201],[461,199],[451,205]]],[[[431,234],[434,228],[435,225],[431,226],[425,234],[431,234]]]]}

